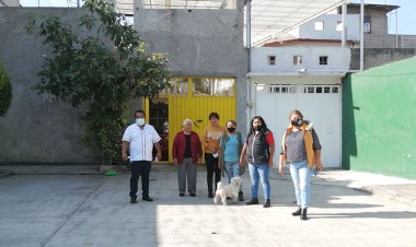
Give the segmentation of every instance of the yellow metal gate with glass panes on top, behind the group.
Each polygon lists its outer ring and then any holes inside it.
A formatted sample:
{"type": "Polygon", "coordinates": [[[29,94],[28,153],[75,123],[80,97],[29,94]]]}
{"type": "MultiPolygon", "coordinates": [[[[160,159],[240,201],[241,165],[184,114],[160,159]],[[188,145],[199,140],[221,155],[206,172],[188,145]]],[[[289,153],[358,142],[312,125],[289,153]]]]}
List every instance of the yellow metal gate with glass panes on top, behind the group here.
{"type": "Polygon", "coordinates": [[[210,113],[219,114],[222,126],[236,117],[234,78],[175,78],[173,86],[160,97],[167,97],[170,162],[173,139],[182,130],[184,119],[194,122],[193,130],[200,137],[209,125],[210,113]]]}

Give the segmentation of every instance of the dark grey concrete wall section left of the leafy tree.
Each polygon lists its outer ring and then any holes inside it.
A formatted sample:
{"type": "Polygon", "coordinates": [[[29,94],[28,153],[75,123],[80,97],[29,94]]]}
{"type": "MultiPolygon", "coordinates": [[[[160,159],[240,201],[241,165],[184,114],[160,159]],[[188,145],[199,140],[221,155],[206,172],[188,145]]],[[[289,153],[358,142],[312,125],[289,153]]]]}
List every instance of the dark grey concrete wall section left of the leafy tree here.
{"type": "Polygon", "coordinates": [[[13,86],[11,107],[0,118],[0,164],[97,163],[82,143],[80,111],[31,89],[39,82],[43,56],[48,55],[42,39],[24,31],[32,13],[74,23],[83,10],[0,8],[0,59],[13,86]]]}

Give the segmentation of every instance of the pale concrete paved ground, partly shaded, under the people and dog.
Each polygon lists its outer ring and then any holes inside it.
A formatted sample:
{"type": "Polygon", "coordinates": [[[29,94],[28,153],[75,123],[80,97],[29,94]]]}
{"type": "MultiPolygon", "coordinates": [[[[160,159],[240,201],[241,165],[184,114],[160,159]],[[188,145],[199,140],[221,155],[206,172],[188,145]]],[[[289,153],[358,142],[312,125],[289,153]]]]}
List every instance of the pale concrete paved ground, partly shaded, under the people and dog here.
{"type": "Polygon", "coordinates": [[[264,209],[213,205],[203,166],[196,198],[178,197],[174,169],[159,165],[151,173],[154,202],[137,204],[128,202],[129,174],[5,168],[20,175],[0,179],[0,246],[416,246],[415,180],[325,172],[312,180],[310,220],[300,221],[290,214],[291,179],[276,170],[273,207],[264,209]],[[68,173],[85,175],[59,175],[68,173]]]}

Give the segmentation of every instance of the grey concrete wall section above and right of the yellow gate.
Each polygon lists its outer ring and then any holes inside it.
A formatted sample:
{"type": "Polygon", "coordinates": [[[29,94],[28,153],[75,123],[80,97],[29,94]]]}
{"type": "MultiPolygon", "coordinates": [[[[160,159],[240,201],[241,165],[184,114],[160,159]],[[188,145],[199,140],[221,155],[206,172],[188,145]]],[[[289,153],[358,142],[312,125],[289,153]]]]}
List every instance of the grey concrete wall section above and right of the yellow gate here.
{"type": "Polygon", "coordinates": [[[174,75],[235,77],[236,121],[240,130],[246,130],[247,51],[241,5],[233,10],[138,8],[135,26],[150,51],[167,54],[174,75]]]}

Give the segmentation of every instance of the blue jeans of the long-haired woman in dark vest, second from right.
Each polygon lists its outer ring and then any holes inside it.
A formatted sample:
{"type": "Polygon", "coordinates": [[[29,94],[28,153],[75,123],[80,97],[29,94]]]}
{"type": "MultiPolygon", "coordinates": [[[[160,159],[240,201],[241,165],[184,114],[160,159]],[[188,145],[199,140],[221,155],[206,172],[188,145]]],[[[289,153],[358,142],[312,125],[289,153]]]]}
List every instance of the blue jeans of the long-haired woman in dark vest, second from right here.
{"type": "Polygon", "coordinates": [[[267,164],[250,164],[250,178],[252,179],[252,198],[257,197],[258,179],[262,181],[264,199],[270,199],[270,181],[268,180],[269,168],[267,164]]]}

